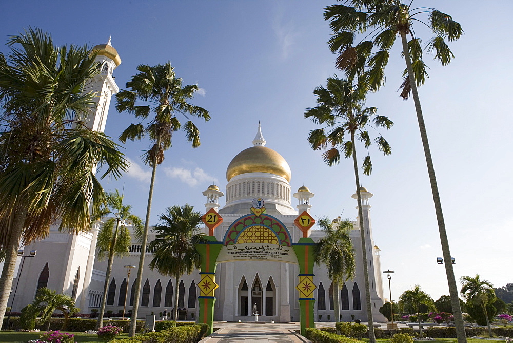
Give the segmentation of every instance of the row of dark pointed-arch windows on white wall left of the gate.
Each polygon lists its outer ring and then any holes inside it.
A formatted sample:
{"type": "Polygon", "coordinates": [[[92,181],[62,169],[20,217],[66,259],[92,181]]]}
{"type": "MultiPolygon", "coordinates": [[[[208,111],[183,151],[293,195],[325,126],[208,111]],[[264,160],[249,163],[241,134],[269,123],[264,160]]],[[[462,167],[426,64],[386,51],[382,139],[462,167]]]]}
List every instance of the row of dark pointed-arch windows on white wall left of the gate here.
{"type": "MultiPolygon", "coordinates": [[[[129,298],[129,306],[133,306],[133,299],[135,296],[135,279],[132,283],[132,287],[130,289],[130,298],[129,298]]],[[[127,280],[123,279],[121,283],[120,291],[117,296],[117,305],[124,306],[125,299],[127,296],[127,280]]],[[[107,305],[114,305],[115,296],[116,296],[116,280],[112,278],[112,281],[109,284],[109,289],[107,291],[107,305]]],[[[164,290],[164,307],[171,308],[173,306],[173,280],[170,279],[167,283],[166,289],[164,290]]],[[[141,306],[150,306],[150,294],[151,294],[151,285],[149,279],[146,279],[146,282],[143,285],[143,292],[141,293],[141,306]]],[[[187,307],[195,308],[196,307],[196,283],[192,280],[189,286],[189,294],[187,299],[187,307]]],[[[157,280],[153,287],[153,298],[151,302],[152,307],[161,307],[162,301],[162,284],[160,279],[157,280]]],[[[180,281],[178,286],[178,307],[184,308],[185,306],[185,284],[184,280],[180,281]]]]}

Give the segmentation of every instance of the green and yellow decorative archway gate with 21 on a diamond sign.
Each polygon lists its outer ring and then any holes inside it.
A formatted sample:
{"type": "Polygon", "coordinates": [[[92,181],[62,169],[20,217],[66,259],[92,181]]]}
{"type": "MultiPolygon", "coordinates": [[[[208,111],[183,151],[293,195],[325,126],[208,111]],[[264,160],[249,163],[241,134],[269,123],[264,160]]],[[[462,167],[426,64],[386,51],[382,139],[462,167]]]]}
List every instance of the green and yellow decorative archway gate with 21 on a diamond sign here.
{"type": "Polygon", "coordinates": [[[201,280],[198,282],[200,296],[198,302],[200,312],[198,322],[209,326],[208,334],[212,333],[214,321],[214,291],[219,285],[215,282],[215,270],[218,263],[230,261],[275,261],[298,264],[300,273],[296,289],[299,292],[300,330],[314,328],[313,309],[315,298],[313,291],[313,245],[308,237],[308,230],[315,220],[306,211],[298,216],[294,224],[303,232],[298,242],[292,242],[287,227],[277,218],[265,214],[264,202],[253,200],[251,214],[235,220],[224,236],[218,241],[213,236],[214,229],[221,224],[223,218],[211,208],[203,217],[209,228],[206,242],[196,245],[201,255],[201,280]]]}

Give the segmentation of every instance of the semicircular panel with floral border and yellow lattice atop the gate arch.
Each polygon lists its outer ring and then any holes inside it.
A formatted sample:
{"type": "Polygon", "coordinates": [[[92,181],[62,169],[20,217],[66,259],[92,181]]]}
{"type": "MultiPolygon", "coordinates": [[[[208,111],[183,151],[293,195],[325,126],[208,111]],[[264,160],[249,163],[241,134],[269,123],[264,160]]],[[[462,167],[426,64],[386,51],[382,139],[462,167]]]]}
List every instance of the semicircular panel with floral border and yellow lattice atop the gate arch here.
{"type": "Polygon", "coordinates": [[[235,220],[224,237],[224,245],[268,243],[292,246],[287,227],[278,219],[262,214],[249,214],[235,220]]]}

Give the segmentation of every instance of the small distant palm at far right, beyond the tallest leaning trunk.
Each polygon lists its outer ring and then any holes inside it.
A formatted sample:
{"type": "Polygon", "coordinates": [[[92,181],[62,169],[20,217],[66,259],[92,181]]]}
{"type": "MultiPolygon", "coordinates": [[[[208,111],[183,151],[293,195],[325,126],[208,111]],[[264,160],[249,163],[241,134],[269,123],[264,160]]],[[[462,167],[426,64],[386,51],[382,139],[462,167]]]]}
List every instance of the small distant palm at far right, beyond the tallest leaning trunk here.
{"type": "Polygon", "coordinates": [[[486,318],[486,325],[488,326],[488,334],[490,337],[494,337],[491,332],[488,312],[486,311],[486,305],[494,303],[496,300],[494,285],[487,280],[482,280],[479,274],[476,274],[475,277],[462,276],[460,281],[462,283],[461,295],[466,301],[475,306],[480,306],[483,309],[484,317],[486,318]]]}

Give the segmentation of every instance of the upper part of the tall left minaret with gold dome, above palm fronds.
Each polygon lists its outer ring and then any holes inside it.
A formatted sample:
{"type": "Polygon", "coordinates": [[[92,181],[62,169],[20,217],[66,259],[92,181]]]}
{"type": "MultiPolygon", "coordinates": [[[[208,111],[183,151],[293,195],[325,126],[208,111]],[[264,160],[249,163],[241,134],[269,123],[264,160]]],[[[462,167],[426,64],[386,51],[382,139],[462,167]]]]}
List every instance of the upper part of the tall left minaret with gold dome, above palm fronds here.
{"type": "Polygon", "coordinates": [[[105,44],[98,44],[92,48],[96,53],[96,62],[100,73],[96,75],[89,83],[87,90],[98,93],[95,99],[96,108],[86,119],[86,125],[93,131],[104,131],[107,122],[107,113],[112,97],[120,89],[114,81],[112,72],[121,64],[120,55],[111,44],[111,39],[105,44]]]}

